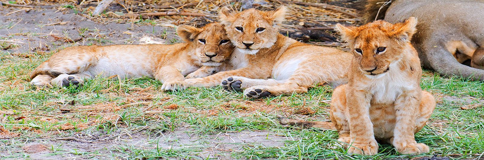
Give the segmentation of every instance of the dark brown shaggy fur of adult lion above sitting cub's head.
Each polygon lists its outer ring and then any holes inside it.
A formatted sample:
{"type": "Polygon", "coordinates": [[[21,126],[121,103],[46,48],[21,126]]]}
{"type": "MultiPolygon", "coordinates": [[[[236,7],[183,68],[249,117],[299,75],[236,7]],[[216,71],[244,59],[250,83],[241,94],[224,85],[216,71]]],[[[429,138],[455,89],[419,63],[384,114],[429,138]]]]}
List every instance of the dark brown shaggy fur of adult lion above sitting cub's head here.
{"type": "Polygon", "coordinates": [[[385,18],[385,13],[392,1],[395,0],[365,0],[364,10],[362,11],[362,24],[385,18]]]}

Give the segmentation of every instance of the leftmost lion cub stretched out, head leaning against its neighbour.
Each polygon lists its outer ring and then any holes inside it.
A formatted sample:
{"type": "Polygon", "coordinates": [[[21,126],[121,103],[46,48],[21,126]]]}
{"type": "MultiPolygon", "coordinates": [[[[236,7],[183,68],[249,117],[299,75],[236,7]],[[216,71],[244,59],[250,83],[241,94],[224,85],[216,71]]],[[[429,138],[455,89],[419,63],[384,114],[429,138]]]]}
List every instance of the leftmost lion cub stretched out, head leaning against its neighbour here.
{"type": "Polygon", "coordinates": [[[183,81],[188,73],[187,78],[205,77],[228,67],[224,61],[233,46],[223,25],[181,25],[177,33],[185,43],[68,47],[40,64],[31,73],[30,84],[67,87],[82,85],[84,79],[96,75],[117,74],[121,78],[154,77],[163,83],[161,89],[175,90],[186,87],[183,81]]]}

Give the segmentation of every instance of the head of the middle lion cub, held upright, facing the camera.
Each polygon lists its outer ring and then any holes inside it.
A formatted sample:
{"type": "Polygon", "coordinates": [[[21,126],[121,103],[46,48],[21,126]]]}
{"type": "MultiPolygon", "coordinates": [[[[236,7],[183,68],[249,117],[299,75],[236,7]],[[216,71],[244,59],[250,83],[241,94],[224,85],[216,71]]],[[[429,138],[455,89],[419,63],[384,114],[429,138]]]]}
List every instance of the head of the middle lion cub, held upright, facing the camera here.
{"type": "Polygon", "coordinates": [[[239,13],[224,8],[220,12],[220,21],[225,24],[230,40],[239,51],[254,55],[259,49],[270,48],[277,40],[279,27],[284,21],[286,7],[275,11],[248,9],[239,13]]]}

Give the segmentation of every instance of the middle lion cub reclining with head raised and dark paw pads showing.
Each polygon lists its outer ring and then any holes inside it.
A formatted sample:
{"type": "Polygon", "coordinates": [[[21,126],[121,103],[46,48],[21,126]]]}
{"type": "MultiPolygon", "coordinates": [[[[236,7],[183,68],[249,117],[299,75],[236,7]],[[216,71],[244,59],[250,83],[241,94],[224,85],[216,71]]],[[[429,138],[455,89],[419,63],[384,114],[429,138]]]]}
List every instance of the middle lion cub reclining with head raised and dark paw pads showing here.
{"type": "Polygon", "coordinates": [[[307,92],[315,82],[333,86],[347,82],[351,54],[303,44],[279,33],[286,7],[275,11],[249,9],[220,13],[220,20],[236,49],[230,63],[235,70],[204,78],[186,79],[190,86],[244,90],[249,98],[307,92]],[[267,79],[271,78],[271,79],[267,79]]]}

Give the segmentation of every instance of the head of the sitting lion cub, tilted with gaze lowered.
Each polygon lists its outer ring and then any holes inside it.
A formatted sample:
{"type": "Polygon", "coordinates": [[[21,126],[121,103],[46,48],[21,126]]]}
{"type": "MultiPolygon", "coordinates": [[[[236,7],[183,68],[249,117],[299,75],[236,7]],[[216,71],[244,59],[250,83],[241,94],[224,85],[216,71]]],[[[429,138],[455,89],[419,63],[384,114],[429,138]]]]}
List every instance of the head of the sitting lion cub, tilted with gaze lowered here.
{"type": "Polygon", "coordinates": [[[415,33],[417,19],[409,17],[402,23],[378,20],[366,25],[345,27],[337,24],[342,38],[348,42],[359,69],[366,75],[386,73],[406,54],[409,54],[410,39],[415,33]]]}

